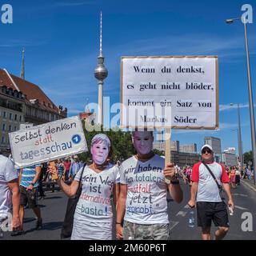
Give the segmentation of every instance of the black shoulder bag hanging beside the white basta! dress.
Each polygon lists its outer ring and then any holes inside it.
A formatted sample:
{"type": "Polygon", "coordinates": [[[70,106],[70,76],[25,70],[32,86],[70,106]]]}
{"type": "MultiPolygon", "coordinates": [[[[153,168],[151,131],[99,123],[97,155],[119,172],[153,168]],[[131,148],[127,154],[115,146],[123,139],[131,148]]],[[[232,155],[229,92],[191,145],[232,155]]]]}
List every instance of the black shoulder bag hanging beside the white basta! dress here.
{"type": "MultiPolygon", "coordinates": [[[[83,171],[85,170],[85,167],[86,167],[86,163],[82,167],[82,174],[83,174],[83,171]]],[[[78,200],[80,198],[80,195],[82,194],[82,186],[81,186],[82,174],[81,174],[81,177],[79,179],[79,185],[78,185],[77,193],[75,194],[75,196],[73,198],[68,199],[68,202],[67,202],[67,205],[66,205],[66,214],[65,214],[64,222],[62,224],[62,231],[61,231],[61,238],[62,239],[63,238],[70,238],[71,234],[72,234],[73,223],[74,223],[74,212],[75,212],[75,208],[78,204],[78,200]]]]}

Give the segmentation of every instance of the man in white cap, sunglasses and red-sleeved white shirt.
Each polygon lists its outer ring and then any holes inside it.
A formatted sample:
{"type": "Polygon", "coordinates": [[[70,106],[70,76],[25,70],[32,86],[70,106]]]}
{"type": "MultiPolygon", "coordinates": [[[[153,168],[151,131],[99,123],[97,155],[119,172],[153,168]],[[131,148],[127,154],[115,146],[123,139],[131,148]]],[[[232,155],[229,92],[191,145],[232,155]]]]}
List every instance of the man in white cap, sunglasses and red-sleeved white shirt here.
{"type": "Polygon", "coordinates": [[[229,178],[225,167],[218,162],[214,162],[214,152],[210,145],[202,146],[201,153],[202,162],[198,162],[193,166],[191,178],[193,183],[188,205],[192,208],[195,204],[197,206],[198,226],[202,227],[202,239],[210,240],[210,226],[213,221],[214,225],[218,226],[218,230],[215,232],[215,239],[221,240],[228,232],[230,224],[226,203],[222,201],[218,186],[222,182],[223,189],[228,197],[228,205],[233,211],[234,202],[230,193],[229,178]],[[216,181],[205,165],[210,168],[216,181]]]}

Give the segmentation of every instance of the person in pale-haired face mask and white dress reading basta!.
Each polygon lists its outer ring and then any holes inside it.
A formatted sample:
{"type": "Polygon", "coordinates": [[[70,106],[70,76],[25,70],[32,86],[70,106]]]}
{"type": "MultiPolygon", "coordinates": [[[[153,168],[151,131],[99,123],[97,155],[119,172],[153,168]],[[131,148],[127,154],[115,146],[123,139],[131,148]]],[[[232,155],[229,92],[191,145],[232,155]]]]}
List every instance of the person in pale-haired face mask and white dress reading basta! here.
{"type": "Polygon", "coordinates": [[[68,186],[62,179],[58,185],[68,197],[77,193],[82,175],[82,194],[75,214],[72,240],[111,240],[114,204],[118,197],[119,168],[110,165],[107,157],[110,154],[110,139],[106,134],[97,134],[91,142],[90,152],[93,162],[83,166],[68,186]]]}

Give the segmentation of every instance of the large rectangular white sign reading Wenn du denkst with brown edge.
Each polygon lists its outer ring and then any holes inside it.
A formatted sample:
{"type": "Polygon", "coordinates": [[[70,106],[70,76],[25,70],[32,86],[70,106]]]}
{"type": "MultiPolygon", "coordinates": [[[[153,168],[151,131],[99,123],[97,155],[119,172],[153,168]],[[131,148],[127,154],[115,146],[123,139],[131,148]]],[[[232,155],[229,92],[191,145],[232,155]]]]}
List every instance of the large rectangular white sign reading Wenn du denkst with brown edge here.
{"type": "Polygon", "coordinates": [[[121,126],[218,129],[216,56],[122,57],[121,126]]]}

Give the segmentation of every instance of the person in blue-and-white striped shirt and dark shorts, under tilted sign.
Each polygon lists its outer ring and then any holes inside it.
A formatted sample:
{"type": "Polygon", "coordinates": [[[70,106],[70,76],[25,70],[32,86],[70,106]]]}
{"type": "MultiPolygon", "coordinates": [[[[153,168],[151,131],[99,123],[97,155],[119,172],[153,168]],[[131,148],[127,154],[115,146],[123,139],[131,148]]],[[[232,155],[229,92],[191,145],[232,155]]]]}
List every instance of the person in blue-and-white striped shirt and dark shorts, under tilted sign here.
{"type": "Polygon", "coordinates": [[[27,166],[21,169],[19,174],[20,190],[21,190],[21,207],[19,211],[19,217],[23,230],[23,219],[24,219],[24,207],[28,204],[29,208],[34,211],[34,214],[37,217],[36,230],[42,229],[42,217],[41,210],[38,207],[37,200],[37,188],[38,188],[38,179],[41,175],[41,165],[27,166]]]}

